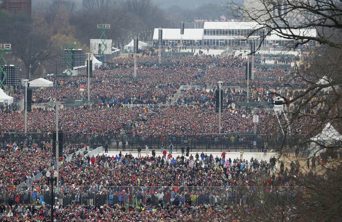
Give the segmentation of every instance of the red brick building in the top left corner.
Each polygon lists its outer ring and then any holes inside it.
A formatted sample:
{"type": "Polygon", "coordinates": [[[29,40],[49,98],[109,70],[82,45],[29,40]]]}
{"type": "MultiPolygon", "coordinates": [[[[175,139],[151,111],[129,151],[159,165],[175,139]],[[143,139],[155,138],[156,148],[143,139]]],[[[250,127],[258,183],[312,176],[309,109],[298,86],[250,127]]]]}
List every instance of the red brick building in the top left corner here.
{"type": "Polygon", "coordinates": [[[4,9],[12,14],[25,13],[31,17],[31,0],[3,0],[0,9],[4,9]]]}

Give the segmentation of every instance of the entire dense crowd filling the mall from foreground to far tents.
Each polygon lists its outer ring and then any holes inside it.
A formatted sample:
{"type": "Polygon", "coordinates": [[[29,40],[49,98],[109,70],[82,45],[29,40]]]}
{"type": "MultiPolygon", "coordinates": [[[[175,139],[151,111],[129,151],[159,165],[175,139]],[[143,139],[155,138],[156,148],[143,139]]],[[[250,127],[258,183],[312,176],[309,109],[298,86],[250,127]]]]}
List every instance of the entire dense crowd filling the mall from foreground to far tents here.
{"type": "MultiPolygon", "coordinates": [[[[233,105],[247,101],[246,58],[198,54],[163,57],[163,62],[173,63],[165,66],[139,63],[139,78],[134,79],[126,77],[133,75],[132,58],[108,60],[112,64],[93,71],[91,79],[90,97],[100,102],[61,108],[60,130],[65,137],[114,138],[114,135],[124,134],[160,140],[165,137],[170,141],[176,137],[190,141],[191,137],[215,135],[218,132],[215,87],[207,90],[205,85],[223,81],[221,132],[273,134],[276,119],[272,111],[233,105]],[[191,88],[183,92],[175,104],[168,104],[181,85],[190,84],[203,88],[191,88]],[[258,123],[252,121],[253,115],[259,116],[258,123]]],[[[146,57],[138,58],[139,62],[158,61],[154,51],[146,50],[144,55],[146,57]]],[[[256,62],[261,63],[261,60],[256,58],[256,62]]],[[[291,58],[277,61],[289,62],[291,58]]],[[[51,78],[53,88],[35,88],[34,103],[87,97],[87,87],[80,91],[80,85],[87,86],[88,79],[84,71],[79,74],[77,77],[51,78]]],[[[254,78],[257,79],[249,82],[248,100],[272,102],[275,94],[291,98],[291,90],[271,88],[290,82],[303,86],[304,81],[297,79],[294,82],[293,75],[292,70],[256,70],[254,78]]],[[[13,96],[23,98],[23,89],[14,89],[13,96]]],[[[298,101],[294,106],[300,105],[298,101]]],[[[301,110],[305,112],[307,106],[317,104],[303,106],[301,110]]],[[[290,107],[293,108],[296,107],[290,107]]],[[[0,111],[1,221],[49,221],[52,211],[56,222],[240,222],[248,221],[251,214],[260,213],[261,205],[255,197],[262,200],[261,204],[270,204],[270,209],[274,209],[269,217],[272,221],[282,213],[277,207],[295,198],[293,187],[301,186],[313,177],[312,171],[302,175],[298,162],[291,163],[289,168],[278,163],[280,171],[276,173],[275,157],[269,161],[253,157],[244,159],[243,151],[240,158],[231,159],[226,158],[225,151],[216,157],[204,152],[193,156],[188,151],[185,155],[182,147],[182,155],[173,156],[170,148],[169,153],[166,150],[160,153],[154,148],[139,146],[138,152],[142,149],[146,152],[143,157],[133,157],[125,151],[111,157],[90,156],[87,151],[76,156],[75,151],[86,144],[66,144],[57,180],[59,189],[54,196],[57,205],[51,206],[49,203],[54,197],[44,176],[31,181],[29,186],[18,185],[39,173],[45,175],[55,163],[49,144],[56,125],[55,110],[35,108],[28,113],[27,132],[42,134],[37,134],[39,138],[27,137],[25,148],[25,140],[15,138],[16,132],[24,131],[24,113],[14,109],[0,111]],[[14,135],[10,141],[4,139],[8,138],[4,137],[8,133],[14,135]],[[71,155],[71,160],[65,161],[71,155]]],[[[285,120],[280,118],[279,121],[285,120]]],[[[309,122],[305,118],[303,121],[309,122]]],[[[295,133],[310,131],[310,128],[302,127],[303,122],[295,124],[295,133]]],[[[238,137],[228,138],[231,145],[234,139],[238,137]]],[[[116,141],[118,146],[118,139],[116,141]]],[[[290,209],[285,209],[285,217],[291,217],[290,209]]]]}

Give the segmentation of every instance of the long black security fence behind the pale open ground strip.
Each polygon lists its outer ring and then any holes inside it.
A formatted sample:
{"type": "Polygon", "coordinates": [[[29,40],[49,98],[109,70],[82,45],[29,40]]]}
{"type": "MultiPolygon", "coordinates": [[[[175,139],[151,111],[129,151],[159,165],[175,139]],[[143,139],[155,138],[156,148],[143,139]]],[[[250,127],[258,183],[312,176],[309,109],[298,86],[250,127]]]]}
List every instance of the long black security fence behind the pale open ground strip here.
{"type": "MultiPolygon", "coordinates": [[[[124,127],[129,130],[131,127],[124,127]]],[[[189,151],[220,151],[231,150],[238,151],[244,150],[246,152],[262,152],[266,146],[270,151],[278,150],[282,146],[294,146],[298,145],[301,141],[304,141],[306,135],[291,134],[286,137],[282,134],[273,135],[261,135],[254,134],[253,132],[244,133],[230,133],[230,134],[207,134],[201,137],[196,136],[153,136],[142,137],[139,135],[126,135],[124,133],[118,135],[64,135],[63,143],[64,147],[69,145],[77,145],[85,143],[89,145],[90,149],[94,149],[98,146],[108,145],[109,151],[136,151],[140,146],[142,149],[147,145],[150,149],[160,149],[161,144],[164,144],[164,148],[168,149],[172,143],[173,151],[180,151],[182,147],[186,150],[189,147],[189,151]]],[[[17,146],[21,142],[27,144],[38,144],[43,141],[45,144],[47,141],[52,144],[52,133],[4,133],[0,136],[0,143],[14,143],[17,146]]]]}

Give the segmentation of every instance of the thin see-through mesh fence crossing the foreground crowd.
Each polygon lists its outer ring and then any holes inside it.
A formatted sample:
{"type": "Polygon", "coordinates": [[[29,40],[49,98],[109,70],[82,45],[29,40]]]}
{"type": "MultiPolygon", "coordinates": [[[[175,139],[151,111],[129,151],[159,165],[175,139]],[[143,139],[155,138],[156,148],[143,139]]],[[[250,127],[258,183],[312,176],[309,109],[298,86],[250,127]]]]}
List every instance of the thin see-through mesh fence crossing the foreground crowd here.
{"type": "MultiPolygon", "coordinates": [[[[55,190],[54,204],[66,205],[287,205],[303,187],[289,186],[62,186],[55,190]]],[[[51,185],[23,186],[13,192],[11,187],[0,187],[0,204],[51,204],[51,185]]]]}

